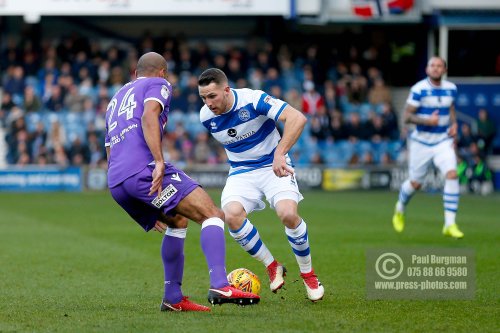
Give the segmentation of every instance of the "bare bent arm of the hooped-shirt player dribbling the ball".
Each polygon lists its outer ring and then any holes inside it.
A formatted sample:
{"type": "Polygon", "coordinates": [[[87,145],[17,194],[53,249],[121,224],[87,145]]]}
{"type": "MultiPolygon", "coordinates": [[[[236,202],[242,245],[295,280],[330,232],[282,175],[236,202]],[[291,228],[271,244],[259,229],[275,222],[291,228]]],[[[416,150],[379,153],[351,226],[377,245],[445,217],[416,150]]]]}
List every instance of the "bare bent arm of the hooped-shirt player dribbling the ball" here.
{"type": "Polygon", "coordinates": [[[286,164],[285,154],[290,151],[304,130],[307,119],[299,110],[287,105],[278,118],[285,126],[283,136],[274,152],[273,171],[278,177],[293,174],[293,168],[286,164]]]}

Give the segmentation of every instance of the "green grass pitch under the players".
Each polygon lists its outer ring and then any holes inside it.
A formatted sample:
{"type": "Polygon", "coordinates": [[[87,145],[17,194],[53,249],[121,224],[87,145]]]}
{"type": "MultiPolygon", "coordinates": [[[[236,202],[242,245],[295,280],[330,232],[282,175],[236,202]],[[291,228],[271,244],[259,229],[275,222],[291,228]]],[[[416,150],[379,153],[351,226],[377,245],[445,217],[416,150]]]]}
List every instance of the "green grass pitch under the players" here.
{"type": "MultiPolygon", "coordinates": [[[[218,191],[211,191],[218,203],[218,191]]],[[[98,193],[0,193],[0,332],[499,332],[500,196],[462,196],[463,240],[441,235],[440,195],[418,193],[402,234],[392,230],[395,192],[305,192],[313,265],[326,292],[306,299],[283,226],[267,209],[252,222],[288,268],[286,290],[268,290],[264,267],[226,233],[227,270],[263,281],[256,306],[162,313],[162,236],[145,233],[98,193]],[[367,300],[365,251],[376,247],[472,248],[473,300],[367,300]]],[[[186,240],[183,291],[207,304],[199,226],[186,240]]]]}

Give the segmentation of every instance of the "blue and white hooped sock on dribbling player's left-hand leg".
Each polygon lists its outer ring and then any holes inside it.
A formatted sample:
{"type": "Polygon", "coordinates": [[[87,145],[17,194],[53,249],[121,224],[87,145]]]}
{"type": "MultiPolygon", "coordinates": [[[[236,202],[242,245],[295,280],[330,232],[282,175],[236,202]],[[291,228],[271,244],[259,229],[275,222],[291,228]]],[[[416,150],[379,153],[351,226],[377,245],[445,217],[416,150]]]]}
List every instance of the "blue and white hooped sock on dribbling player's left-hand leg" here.
{"type": "Polygon", "coordinates": [[[262,242],[259,231],[250,220],[245,219],[241,228],[238,230],[229,230],[229,234],[238,244],[240,244],[243,250],[262,262],[266,267],[274,261],[271,251],[269,251],[267,246],[262,242]]]}

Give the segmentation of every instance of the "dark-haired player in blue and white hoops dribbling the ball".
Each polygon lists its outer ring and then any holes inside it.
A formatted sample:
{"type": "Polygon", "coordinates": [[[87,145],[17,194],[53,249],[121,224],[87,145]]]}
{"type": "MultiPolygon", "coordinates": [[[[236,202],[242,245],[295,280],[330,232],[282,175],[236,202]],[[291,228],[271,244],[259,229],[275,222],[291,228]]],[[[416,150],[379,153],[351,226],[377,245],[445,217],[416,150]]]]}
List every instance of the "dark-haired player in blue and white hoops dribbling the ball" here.
{"type": "Polygon", "coordinates": [[[252,257],[262,262],[273,292],[285,283],[286,269],[274,259],[247,218],[265,208],[265,196],[285,226],[310,300],[320,300],[324,288],[314,273],[307,225],[297,213],[303,199],[297,186],[288,151],[299,138],[306,118],[263,91],[231,89],[223,71],[205,70],[198,79],[205,105],[200,121],[225,148],[230,170],[221,205],[231,236],[252,257]],[[284,124],[280,136],[276,122],[284,124]]]}

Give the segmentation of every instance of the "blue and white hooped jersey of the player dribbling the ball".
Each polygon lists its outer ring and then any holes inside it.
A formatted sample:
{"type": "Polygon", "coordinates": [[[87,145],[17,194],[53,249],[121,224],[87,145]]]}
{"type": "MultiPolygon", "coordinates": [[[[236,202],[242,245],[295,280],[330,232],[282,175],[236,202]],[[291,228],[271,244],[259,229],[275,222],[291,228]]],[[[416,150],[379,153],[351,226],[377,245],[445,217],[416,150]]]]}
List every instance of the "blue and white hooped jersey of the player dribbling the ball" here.
{"type": "Polygon", "coordinates": [[[229,175],[269,167],[281,136],[276,128],[286,102],[261,90],[231,89],[234,105],[214,115],[204,105],[200,121],[222,143],[229,159],[229,175]]]}

